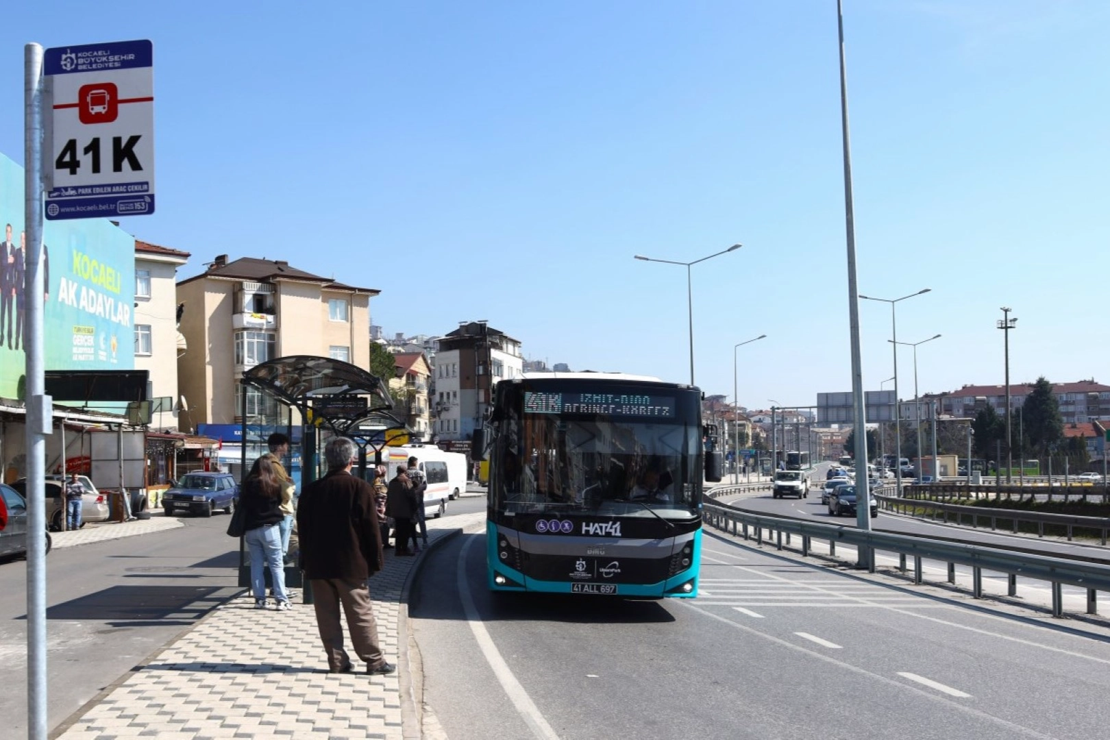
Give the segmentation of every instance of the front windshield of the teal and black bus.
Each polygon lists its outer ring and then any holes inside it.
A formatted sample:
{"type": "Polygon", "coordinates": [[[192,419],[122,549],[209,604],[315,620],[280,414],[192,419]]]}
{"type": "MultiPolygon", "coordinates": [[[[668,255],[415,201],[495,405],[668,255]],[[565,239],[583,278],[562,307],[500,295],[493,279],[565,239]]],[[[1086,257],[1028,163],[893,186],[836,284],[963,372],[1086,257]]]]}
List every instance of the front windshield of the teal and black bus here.
{"type": "Polygon", "coordinates": [[[555,414],[507,422],[491,480],[501,510],[672,518],[697,508],[702,439],[694,426],[555,414]]]}

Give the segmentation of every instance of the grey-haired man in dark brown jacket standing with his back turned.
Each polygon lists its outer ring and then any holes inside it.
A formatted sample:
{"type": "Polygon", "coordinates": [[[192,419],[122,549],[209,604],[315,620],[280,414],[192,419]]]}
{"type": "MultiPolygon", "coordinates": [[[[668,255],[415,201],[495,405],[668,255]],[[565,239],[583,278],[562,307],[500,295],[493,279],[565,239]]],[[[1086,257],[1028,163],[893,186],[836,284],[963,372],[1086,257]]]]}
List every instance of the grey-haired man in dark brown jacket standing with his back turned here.
{"type": "Polygon", "coordinates": [[[312,585],[320,639],[333,673],[353,669],[343,648],[340,606],[355,652],[366,672],[396,670],[377,645],[377,622],[370,604],[366,579],[382,569],[382,531],[377,524],[374,488],[351,475],[356,448],[346,437],[335,437],[324,448],[327,475],[304,487],[296,510],[301,568],[312,585]]]}

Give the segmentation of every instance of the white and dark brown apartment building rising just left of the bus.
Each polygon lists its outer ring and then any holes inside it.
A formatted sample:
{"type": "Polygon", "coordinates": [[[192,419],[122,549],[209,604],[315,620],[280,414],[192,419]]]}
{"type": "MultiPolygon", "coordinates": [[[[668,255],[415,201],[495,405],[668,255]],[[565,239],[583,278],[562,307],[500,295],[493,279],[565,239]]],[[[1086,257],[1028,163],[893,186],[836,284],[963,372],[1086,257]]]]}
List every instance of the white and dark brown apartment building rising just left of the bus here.
{"type": "Polygon", "coordinates": [[[437,345],[432,430],[441,440],[468,439],[485,418],[494,384],[523,376],[521,343],[486,322],[462,322],[437,345]]]}

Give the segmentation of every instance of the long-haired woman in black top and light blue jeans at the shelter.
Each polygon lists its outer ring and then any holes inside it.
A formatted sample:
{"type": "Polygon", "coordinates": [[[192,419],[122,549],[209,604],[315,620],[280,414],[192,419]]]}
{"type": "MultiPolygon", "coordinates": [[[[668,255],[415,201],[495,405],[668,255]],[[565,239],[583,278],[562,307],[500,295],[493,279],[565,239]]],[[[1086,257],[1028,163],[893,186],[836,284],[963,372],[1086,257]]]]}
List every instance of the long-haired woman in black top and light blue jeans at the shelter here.
{"type": "Polygon", "coordinates": [[[285,592],[285,567],[282,562],[281,524],[284,514],[281,510],[281,478],[275,466],[278,458],[266,453],[254,460],[251,474],[243,481],[243,490],[239,505],[245,509],[243,528],[246,547],[251,553],[251,590],[254,592],[254,606],[266,608],[266,581],[263,568],[270,567],[270,579],[273,582],[273,595],[278,609],[292,608],[285,592]]]}

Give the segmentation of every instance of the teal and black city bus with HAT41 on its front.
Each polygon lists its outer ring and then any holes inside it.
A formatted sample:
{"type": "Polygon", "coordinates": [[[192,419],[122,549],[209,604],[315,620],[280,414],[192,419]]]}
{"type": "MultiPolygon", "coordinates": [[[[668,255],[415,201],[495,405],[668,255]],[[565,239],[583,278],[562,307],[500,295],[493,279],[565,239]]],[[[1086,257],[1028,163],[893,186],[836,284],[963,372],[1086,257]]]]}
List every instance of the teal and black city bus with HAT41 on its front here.
{"type": "Polygon", "coordinates": [[[529,373],[495,388],[474,452],[488,455],[495,591],[697,596],[713,427],[689,385],[609,373],[529,373]]]}

